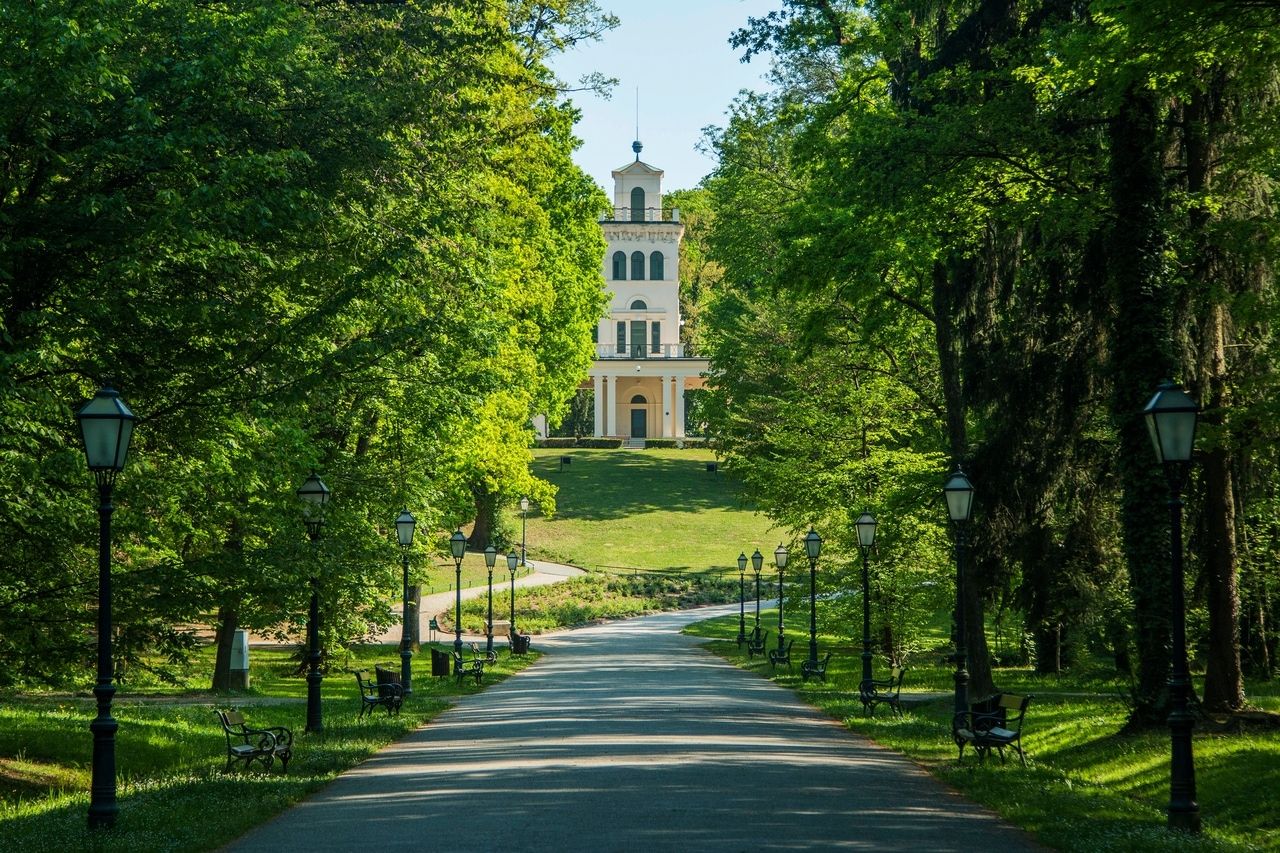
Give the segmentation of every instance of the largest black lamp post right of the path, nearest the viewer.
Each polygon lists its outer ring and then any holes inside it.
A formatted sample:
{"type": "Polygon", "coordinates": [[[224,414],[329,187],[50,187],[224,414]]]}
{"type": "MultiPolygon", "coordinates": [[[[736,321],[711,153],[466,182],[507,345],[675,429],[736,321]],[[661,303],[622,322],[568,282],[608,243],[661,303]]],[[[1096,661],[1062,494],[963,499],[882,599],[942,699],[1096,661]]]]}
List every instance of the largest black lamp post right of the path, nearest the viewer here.
{"type": "Polygon", "coordinates": [[[1162,382],[1143,409],[1156,459],[1165,466],[1169,480],[1169,556],[1172,562],[1174,666],[1169,676],[1169,731],[1172,742],[1169,785],[1169,827],[1199,833],[1199,804],[1196,802],[1196,762],[1192,757],[1192,727],[1196,719],[1187,707],[1192,688],[1187,667],[1187,601],[1183,589],[1183,485],[1190,473],[1196,446],[1196,420],[1199,406],[1181,388],[1162,382]]]}

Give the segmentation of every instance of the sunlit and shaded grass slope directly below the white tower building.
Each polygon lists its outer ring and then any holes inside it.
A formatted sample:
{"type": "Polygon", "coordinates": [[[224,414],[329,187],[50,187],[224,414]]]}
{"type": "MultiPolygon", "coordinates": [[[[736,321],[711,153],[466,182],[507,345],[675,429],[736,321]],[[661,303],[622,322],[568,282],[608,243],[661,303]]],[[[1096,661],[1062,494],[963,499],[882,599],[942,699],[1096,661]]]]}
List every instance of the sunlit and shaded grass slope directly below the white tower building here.
{"type": "MultiPolygon", "coordinates": [[[[529,510],[530,556],[577,566],[737,569],[772,553],[781,530],[745,506],[732,471],[707,471],[708,450],[534,451],[534,473],[559,487],[554,519],[529,510]],[[559,457],[572,457],[563,470],[559,457]]],[[[515,511],[516,534],[520,510],[515,511]]]]}

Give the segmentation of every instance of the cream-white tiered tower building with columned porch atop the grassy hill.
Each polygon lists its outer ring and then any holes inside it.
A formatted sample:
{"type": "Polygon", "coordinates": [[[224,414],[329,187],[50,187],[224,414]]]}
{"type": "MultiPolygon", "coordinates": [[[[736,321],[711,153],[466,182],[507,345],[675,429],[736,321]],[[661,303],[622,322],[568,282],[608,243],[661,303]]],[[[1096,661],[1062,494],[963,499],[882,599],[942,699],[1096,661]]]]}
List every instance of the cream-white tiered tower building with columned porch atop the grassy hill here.
{"type": "Polygon", "coordinates": [[[596,437],[684,438],[685,392],[705,384],[707,360],[680,341],[678,209],[662,204],[662,169],[636,159],[613,170],[613,210],[602,216],[608,241],[604,282],[609,313],[596,325],[596,437]]]}

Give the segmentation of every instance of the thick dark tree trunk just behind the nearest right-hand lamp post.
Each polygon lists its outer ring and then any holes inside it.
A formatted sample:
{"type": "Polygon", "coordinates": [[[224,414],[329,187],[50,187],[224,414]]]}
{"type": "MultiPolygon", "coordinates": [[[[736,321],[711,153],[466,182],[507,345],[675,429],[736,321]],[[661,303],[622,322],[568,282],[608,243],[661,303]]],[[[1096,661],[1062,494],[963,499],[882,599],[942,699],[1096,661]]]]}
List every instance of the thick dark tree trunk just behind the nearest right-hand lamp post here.
{"type": "Polygon", "coordinates": [[[1130,722],[1162,725],[1171,663],[1169,488],[1142,406],[1169,377],[1169,297],[1164,287],[1164,210],[1160,122],[1155,95],[1134,85],[1112,118],[1112,206],[1107,272],[1112,302],[1111,411],[1120,446],[1120,523],[1134,599],[1138,679],[1130,722]]]}

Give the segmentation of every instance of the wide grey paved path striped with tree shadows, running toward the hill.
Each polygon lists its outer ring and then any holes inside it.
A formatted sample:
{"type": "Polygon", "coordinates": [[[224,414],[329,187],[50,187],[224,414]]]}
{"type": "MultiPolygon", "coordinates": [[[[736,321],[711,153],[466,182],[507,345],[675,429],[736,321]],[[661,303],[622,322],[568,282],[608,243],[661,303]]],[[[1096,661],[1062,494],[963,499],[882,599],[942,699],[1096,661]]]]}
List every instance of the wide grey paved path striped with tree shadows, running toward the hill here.
{"type": "Polygon", "coordinates": [[[228,849],[1041,849],[677,633],[730,610],[535,638],[536,665],[228,849]]]}

